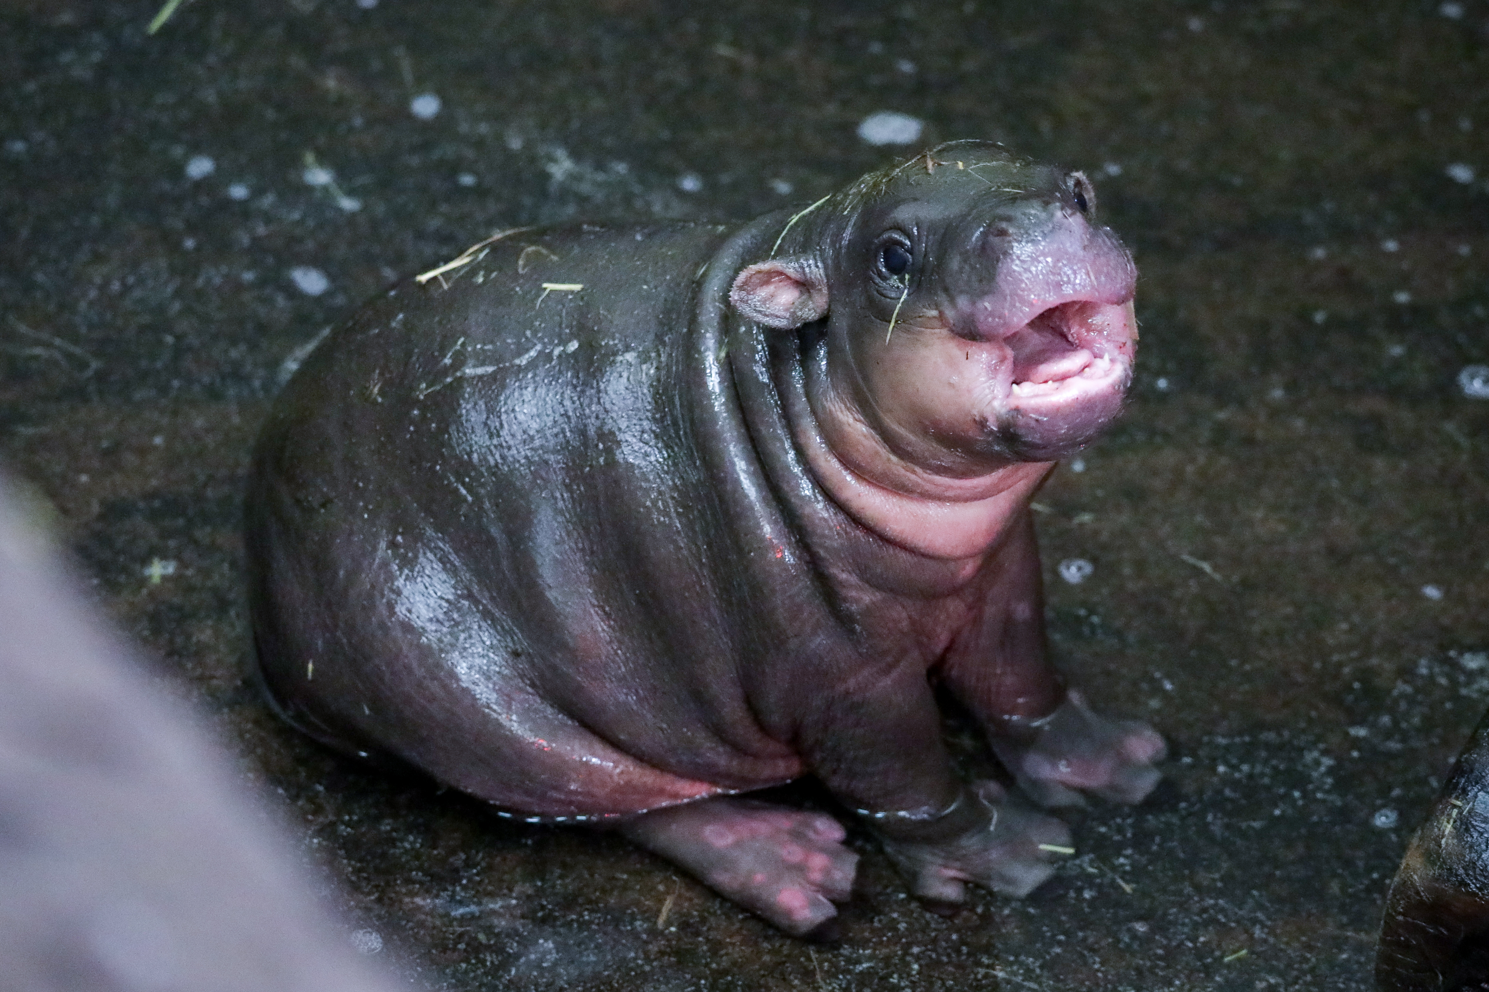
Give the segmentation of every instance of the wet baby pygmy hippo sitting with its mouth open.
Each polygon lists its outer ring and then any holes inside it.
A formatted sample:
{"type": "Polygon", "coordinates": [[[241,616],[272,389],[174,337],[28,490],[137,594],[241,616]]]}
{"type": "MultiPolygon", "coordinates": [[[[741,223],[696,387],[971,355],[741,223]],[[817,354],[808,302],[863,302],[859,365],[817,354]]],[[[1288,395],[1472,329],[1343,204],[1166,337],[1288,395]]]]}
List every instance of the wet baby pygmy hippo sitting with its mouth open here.
{"type": "Polygon", "coordinates": [[[916,894],[1024,894],[1059,819],[957,778],[932,683],[1044,805],[1163,739],[1045,659],[1029,500],[1132,378],[1080,173],[981,141],[744,226],[514,231],[326,339],[259,440],[286,717],[502,815],[612,824],[792,934],[847,898],[814,775],[916,894]]]}

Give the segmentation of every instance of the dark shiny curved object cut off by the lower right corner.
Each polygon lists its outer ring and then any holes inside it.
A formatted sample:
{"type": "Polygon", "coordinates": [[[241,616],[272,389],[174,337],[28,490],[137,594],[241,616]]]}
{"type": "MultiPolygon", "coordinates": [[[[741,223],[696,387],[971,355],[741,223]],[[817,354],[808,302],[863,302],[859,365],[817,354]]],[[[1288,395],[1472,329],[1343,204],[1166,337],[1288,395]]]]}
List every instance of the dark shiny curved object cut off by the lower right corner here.
{"type": "Polygon", "coordinates": [[[1489,715],[1458,756],[1391,882],[1376,986],[1489,989],[1489,715]]]}

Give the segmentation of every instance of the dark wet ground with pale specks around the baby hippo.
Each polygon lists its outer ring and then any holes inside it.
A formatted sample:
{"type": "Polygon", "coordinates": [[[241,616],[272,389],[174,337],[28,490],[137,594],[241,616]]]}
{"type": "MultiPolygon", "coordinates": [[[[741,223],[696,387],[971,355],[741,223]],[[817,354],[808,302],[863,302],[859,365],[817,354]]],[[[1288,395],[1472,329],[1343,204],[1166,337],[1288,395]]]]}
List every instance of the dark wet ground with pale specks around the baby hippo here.
{"type": "Polygon", "coordinates": [[[0,0],[0,455],[348,931],[444,989],[1367,985],[1489,703],[1489,400],[1459,384],[1489,364],[1489,4],[153,13],[0,0]],[[868,144],[881,110],[922,135],[868,144]],[[954,137],[1084,168],[1142,269],[1130,412],[1038,509],[1060,660],[1172,741],[1150,803],[1074,817],[1051,883],[953,919],[856,837],[844,938],[809,946],[270,717],[238,494],[286,355],[497,228],[749,217],[954,137]]]}

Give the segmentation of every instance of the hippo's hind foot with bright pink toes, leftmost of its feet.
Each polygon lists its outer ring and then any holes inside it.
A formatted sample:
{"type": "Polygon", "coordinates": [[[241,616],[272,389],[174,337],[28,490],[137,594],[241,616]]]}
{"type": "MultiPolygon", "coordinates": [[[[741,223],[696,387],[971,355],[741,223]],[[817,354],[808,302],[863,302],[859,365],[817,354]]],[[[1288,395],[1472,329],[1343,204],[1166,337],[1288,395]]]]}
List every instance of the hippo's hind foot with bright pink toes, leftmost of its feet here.
{"type": "Polygon", "coordinates": [[[706,799],[621,824],[631,842],[795,937],[825,933],[853,888],[858,855],[823,814],[706,799]]]}

